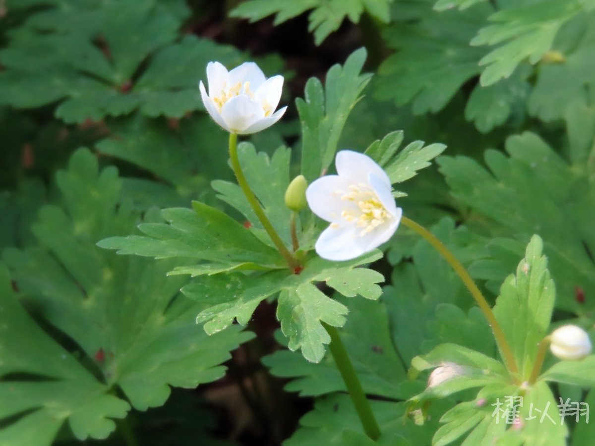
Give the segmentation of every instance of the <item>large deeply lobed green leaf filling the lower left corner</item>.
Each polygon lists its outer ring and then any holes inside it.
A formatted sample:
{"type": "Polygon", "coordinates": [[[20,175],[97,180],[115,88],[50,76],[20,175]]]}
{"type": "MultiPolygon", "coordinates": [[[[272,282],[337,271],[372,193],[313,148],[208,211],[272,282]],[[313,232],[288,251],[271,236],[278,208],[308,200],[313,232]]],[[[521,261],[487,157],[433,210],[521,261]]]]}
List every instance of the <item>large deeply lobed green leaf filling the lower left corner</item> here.
{"type": "Polygon", "coordinates": [[[40,211],[33,225],[39,246],[5,250],[4,259],[36,318],[74,347],[57,346],[14,298],[2,305],[1,401],[11,404],[0,417],[18,414],[0,434],[7,444],[32,444],[32,432],[49,444],[66,419],[79,439],[105,438],[114,429],[106,418],[129,409],[111,394],[115,386],[137,410],[160,406],[170,386],[194,388],[223,376],[228,351],[252,337],[237,328],[208,337],[195,322],[204,306],[181,296],[184,280],[165,275],[171,264],[95,246],[106,234],[129,233],[138,219],[114,168],[100,171],[96,157],[80,149],[56,183],[63,204],[40,211]]]}

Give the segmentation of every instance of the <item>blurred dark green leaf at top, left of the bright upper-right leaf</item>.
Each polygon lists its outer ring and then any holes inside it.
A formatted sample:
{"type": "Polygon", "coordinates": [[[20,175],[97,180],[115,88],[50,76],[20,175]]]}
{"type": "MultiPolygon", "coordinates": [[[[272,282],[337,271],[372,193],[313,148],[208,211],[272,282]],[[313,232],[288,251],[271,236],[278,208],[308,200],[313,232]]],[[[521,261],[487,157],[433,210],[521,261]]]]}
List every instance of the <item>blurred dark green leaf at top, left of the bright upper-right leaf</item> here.
{"type": "Polygon", "coordinates": [[[395,52],[378,68],[374,97],[393,99],[397,105],[412,102],[414,114],[440,111],[466,81],[481,73],[478,62],[485,51],[469,46],[469,40],[490,8],[477,5],[439,14],[430,2],[395,7],[403,22],[384,32],[395,52]]]}

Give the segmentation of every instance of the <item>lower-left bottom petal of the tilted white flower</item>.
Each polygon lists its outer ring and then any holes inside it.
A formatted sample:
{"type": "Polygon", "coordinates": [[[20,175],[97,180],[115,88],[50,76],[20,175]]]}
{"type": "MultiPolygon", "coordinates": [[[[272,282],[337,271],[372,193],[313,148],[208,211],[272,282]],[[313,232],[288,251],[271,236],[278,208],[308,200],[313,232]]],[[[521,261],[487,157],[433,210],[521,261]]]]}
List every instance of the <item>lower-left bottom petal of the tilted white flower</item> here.
{"type": "Polygon", "coordinates": [[[359,235],[353,226],[326,228],[316,241],[316,252],[327,260],[350,260],[364,254],[357,242],[359,235]]]}

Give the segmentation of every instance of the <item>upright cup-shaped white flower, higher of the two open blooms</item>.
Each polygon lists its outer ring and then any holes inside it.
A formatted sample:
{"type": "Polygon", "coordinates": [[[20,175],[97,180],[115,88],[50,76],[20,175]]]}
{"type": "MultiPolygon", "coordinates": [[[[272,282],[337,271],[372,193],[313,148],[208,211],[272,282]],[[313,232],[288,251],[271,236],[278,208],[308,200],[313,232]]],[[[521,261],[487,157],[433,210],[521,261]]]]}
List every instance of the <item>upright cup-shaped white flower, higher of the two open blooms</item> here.
{"type": "Polygon", "coordinates": [[[287,109],[274,112],[281,99],[283,76],[267,79],[254,62],[245,62],[229,72],[219,62],[209,62],[206,78],[209,94],[201,81],[202,102],[215,122],[230,133],[245,135],[264,130],[287,109]]]}

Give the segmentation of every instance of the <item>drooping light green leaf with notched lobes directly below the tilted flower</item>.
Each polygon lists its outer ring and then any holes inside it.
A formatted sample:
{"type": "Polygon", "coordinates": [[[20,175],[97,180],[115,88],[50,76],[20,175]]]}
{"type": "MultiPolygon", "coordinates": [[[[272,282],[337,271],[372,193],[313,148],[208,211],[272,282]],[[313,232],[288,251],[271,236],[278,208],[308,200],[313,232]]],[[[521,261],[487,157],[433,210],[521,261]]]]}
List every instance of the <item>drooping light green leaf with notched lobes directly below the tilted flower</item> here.
{"type": "Polygon", "coordinates": [[[198,315],[198,321],[206,322],[205,330],[209,334],[227,328],[234,320],[245,325],[262,300],[280,294],[277,318],[283,334],[289,338],[290,350],[301,348],[307,360],[320,362],[324,356],[324,344],[330,342],[321,322],[342,326],[346,321],[347,308],[325,296],[315,284],[327,282],[346,296],[359,294],[377,299],[380,287],[376,283],[383,280],[382,275],[355,268],[380,256],[381,253],[376,250],[347,262],[329,262],[314,257],[304,263],[299,274],[280,269],[264,274],[200,277],[182,288],[182,292],[191,299],[208,304],[209,307],[198,315]],[[346,279],[350,274],[355,274],[360,280],[346,279]]]}

